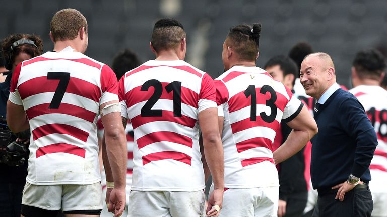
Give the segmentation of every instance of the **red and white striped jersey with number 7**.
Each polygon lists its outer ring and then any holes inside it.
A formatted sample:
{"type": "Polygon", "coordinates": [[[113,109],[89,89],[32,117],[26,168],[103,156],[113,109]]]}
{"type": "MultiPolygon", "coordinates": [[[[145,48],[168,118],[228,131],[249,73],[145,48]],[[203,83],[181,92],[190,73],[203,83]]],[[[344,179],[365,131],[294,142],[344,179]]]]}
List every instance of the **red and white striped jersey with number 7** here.
{"type": "Polygon", "coordinates": [[[99,182],[99,107],[118,100],[117,93],[114,72],[71,47],[20,64],[9,99],[24,107],[30,123],[27,182],[99,182]]]}

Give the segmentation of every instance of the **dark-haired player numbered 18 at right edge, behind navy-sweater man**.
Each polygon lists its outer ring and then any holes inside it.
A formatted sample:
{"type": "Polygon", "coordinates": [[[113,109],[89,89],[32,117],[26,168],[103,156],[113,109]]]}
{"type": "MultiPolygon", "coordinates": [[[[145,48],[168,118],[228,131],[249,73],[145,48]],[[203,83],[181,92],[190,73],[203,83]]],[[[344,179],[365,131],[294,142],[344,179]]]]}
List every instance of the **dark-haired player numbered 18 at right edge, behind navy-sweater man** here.
{"type": "Polygon", "coordinates": [[[352,64],[352,83],[354,94],[363,105],[372,126],[374,126],[378,143],[369,166],[372,181],[369,188],[372,193],[372,216],[387,215],[387,90],[379,86],[386,67],[383,55],[375,50],[359,51],[352,64]]]}

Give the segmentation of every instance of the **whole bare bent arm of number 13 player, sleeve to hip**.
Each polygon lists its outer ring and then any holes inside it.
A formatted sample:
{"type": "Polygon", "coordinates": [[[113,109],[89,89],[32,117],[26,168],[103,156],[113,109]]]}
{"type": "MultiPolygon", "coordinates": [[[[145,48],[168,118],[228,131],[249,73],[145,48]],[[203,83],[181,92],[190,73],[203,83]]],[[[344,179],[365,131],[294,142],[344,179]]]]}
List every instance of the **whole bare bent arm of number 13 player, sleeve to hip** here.
{"type": "Polygon", "coordinates": [[[318,131],[317,124],[306,106],[303,106],[301,112],[287,124],[293,130],[284,144],[273,153],[276,164],[299,152],[318,131]]]}

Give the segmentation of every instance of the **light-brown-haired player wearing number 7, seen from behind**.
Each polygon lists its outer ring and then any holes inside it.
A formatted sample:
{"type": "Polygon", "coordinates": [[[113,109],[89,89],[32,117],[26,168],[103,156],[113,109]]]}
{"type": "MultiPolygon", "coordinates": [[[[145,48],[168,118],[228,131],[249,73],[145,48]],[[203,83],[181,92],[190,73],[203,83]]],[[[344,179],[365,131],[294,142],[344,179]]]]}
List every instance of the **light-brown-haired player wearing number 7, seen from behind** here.
{"type": "Polygon", "coordinates": [[[79,11],[58,11],[50,27],[53,51],[16,67],[7,103],[9,128],[31,128],[33,138],[21,214],[55,216],[62,209],[65,215],[99,216],[101,113],[115,182],[109,209],[119,216],[125,206],[126,144],[114,72],[83,54],[87,21],[79,11]]]}

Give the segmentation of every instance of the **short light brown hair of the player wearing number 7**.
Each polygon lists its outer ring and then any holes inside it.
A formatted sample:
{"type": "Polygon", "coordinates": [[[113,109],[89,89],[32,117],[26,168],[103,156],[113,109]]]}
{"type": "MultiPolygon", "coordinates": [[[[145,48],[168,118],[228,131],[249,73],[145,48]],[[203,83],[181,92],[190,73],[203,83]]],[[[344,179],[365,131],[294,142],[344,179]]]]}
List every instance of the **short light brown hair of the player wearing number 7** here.
{"type": "Polygon", "coordinates": [[[86,18],[81,12],[70,8],[56,12],[52,17],[50,26],[54,41],[75,39],[82,27],[85,27],[85,32],[87,32],[86,18]]]}

